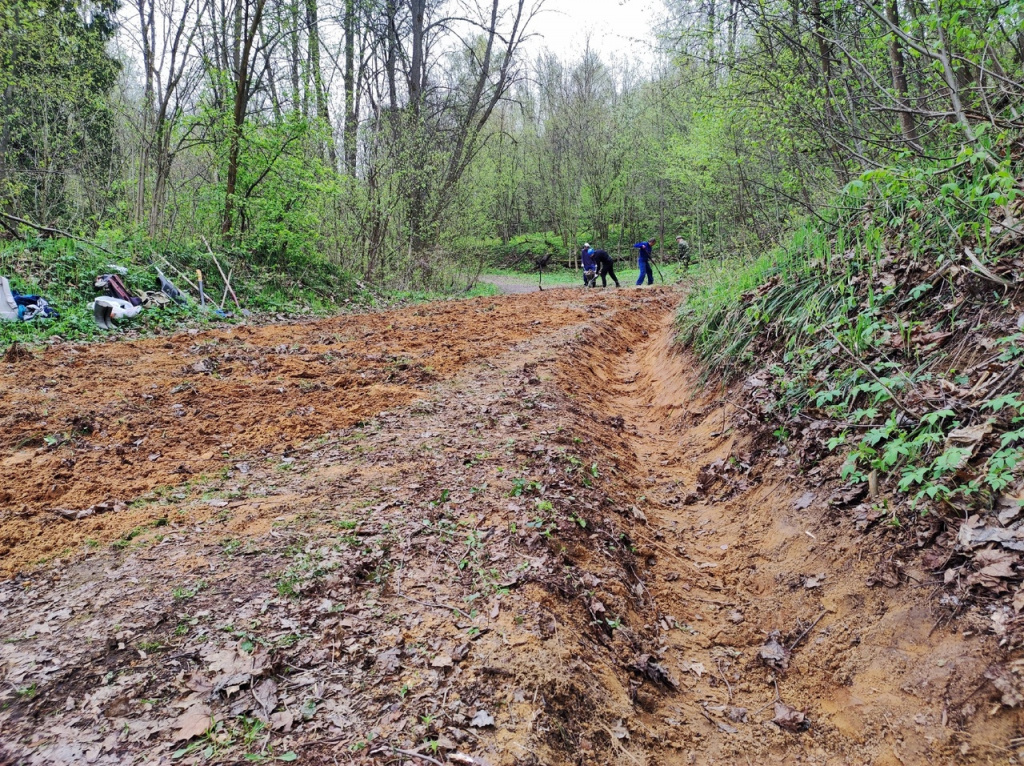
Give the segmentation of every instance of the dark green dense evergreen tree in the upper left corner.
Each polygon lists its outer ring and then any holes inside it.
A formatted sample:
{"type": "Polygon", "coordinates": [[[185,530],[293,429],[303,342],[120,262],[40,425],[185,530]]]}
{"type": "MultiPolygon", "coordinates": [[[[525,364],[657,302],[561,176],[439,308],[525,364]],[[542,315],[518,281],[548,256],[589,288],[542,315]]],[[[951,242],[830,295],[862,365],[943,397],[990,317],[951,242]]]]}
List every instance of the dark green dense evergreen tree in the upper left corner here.
{"type": "Polygon", "coordinates": [[[115,190],[118,0],[0,3],[0,203],[81,221],[115,190]]]}

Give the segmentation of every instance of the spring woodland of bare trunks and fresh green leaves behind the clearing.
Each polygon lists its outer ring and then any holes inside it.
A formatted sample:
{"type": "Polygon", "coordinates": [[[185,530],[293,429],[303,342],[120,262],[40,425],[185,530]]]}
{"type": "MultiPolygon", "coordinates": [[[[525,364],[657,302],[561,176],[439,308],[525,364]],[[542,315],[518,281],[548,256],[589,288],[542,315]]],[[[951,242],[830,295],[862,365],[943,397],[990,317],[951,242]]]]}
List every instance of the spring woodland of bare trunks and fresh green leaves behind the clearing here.
{"type": "Polygon", "coordinates": [[[0,225],[443,290],[584,240],[750,261],[883,168],[1014,187],[1020,2],[668,0],[654,63],[528,54],[531,3],[0,0],[0,225]]]}

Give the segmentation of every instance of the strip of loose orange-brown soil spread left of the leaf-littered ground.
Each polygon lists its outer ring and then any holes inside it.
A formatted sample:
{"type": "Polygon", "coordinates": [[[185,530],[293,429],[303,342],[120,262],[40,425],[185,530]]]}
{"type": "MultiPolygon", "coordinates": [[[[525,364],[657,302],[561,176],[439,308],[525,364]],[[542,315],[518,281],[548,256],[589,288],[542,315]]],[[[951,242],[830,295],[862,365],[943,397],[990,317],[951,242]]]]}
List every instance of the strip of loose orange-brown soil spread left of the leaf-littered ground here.
{"type": "Polygon", "coordinates": [[[65,516],[172,486],[189,497],[209,476],[409,402],[467,363],[583,317],[558,302],[480,298],[56,346],[0,365],[0,577],[153,520],[138,508],[74,525],[65,516]]]}

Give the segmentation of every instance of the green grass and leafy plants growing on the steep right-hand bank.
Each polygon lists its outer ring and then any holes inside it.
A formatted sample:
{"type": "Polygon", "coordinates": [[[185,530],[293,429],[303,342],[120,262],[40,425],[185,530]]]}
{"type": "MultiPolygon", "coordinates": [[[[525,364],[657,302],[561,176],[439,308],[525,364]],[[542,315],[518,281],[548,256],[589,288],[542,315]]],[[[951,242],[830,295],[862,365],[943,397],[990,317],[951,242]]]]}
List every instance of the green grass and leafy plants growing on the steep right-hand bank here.
{"type": "MultiPolygon", "coordinates": [[[[947,440],[954,429],[977,424],[977,416],[953,408],[916,413],[905,400],[943,377],[946,386],[967,383],[955,358],[918,340],[919,329],[964,337],[972,327],[961,314],[971,316],[999,295],[961,293],[937,303],[932,292],[949,289],[937,278],[919,288],[889,269],[898,261],[907,273],[941,275],[947,259],[957,257],[949,254],[952,239],[977,260],[964,257],[959,267],[990,280],[986,271],[1020,252],[1019,245],[1007,251],[989,223],[991,211],[1019,194],[1007,177],[1016,177],[1009,162],[992,170],[961,159],[869,171],[778,248],[750,261],[703,264],[679,313],[680,339],[707,376],[735,378],[766,356],[776,359],[757,384],[774,397],[782,423],[776,436],[787,436],[787,424],[802,414],[842,422],[847,427],[827,446],[845,452],[846,480],[892,475],[896,488],[919,503],[998,493],[1017,480],[1024,455],[1022,394],[981,403],[999,448],[980,459],[972,445],[947,440]]],[[[995,339],[1000,361],[1015,363],[1019,338],[995,339]]],[[[963,344],[957,348],[963,352],[963,344]]]]}

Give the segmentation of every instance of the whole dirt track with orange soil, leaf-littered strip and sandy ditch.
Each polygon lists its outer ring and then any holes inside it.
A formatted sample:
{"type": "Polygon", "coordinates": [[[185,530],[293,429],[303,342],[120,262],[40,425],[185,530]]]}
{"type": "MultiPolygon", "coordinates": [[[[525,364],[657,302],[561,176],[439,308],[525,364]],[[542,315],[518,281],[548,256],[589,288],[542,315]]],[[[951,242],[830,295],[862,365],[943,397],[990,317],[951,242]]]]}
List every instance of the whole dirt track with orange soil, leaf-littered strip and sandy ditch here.
{"type": "Polygon", "coordinates": [[[984,621],[735,425],[676,302],[0,366],[0,763],[1019,762],[984,621]]]}

